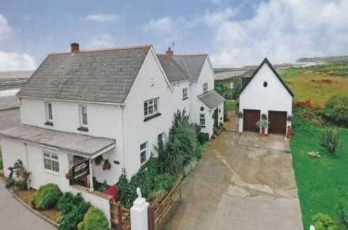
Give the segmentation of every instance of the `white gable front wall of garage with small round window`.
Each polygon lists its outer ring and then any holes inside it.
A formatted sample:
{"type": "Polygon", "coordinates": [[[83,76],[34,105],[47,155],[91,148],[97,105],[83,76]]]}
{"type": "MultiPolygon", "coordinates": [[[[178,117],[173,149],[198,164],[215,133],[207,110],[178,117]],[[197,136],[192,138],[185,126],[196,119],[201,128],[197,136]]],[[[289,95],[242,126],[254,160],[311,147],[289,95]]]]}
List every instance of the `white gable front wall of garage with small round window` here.
{"type": "MultiPolygon", "coordinates": [[[[260,114],[267,116],[269,111],[292,114],[292,96],[266,63],[239,95],[239,112],[243,112],[243,109],[260,110],[260,114]],[[267,82],[267,87],[263,86],[264,82],[267,82]]],[[[291,123],[287,122],[287,125],[291,123]]],[[[239,132],[243,132],[242,118],[239,119],[239,132]]]]}

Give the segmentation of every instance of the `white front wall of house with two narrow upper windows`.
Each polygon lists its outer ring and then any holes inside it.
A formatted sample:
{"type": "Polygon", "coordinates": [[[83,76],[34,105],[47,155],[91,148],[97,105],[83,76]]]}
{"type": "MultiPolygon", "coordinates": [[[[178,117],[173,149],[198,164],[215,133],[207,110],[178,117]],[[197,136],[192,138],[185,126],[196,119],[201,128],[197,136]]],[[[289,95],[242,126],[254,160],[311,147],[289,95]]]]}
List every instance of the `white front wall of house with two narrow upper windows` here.
{"type": "Polygon", "coordinates": [[[95,176],[97,181],[103,182],[106,180],[109,185],[117,183],[123,167],[122,107],[51,100],[49,102],[52,103],[54,123],[51,126],[45,125],[45,101],[47,100],[23,98],[20,107],[22,123],[82,135],[116,139],[116,148],[103,155],[104,159],[109,159],[111,169],[102,171],[102,165],[96,166],[95,176]],[[87,107],[88,132],[77,130],[79,128],[79,105],[87,107]],[[120,162],[120,164],[115,164],[114,160],[120,162]]]}

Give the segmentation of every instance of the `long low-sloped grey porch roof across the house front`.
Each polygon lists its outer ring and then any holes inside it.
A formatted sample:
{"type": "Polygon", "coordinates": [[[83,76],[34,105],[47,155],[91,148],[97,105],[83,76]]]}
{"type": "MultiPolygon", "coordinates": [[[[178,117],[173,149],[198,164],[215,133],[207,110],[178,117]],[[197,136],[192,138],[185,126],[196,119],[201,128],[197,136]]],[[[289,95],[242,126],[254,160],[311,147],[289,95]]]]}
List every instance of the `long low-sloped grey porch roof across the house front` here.
{"type": "Polygon", "coordinates": [[[30,125],[19,125],[0,131],[0,137],[35,144],[47,148],[56,148],[68,153],[95,158],[116,146],[115,139],[80,135],[38,128],[30,125]]]}

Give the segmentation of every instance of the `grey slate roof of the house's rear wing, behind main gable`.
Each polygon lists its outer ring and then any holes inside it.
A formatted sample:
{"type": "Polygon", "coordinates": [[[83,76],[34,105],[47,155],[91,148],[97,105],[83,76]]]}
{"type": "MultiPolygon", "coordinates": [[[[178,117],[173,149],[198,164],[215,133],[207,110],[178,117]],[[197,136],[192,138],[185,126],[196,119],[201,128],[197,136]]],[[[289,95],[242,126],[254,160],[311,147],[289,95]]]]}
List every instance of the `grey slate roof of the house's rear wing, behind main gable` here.
{"type": "Polygon", "coordinates": [[[165,55],[157,54],[169,82],[197,81],[207,54],[165,55]]]}

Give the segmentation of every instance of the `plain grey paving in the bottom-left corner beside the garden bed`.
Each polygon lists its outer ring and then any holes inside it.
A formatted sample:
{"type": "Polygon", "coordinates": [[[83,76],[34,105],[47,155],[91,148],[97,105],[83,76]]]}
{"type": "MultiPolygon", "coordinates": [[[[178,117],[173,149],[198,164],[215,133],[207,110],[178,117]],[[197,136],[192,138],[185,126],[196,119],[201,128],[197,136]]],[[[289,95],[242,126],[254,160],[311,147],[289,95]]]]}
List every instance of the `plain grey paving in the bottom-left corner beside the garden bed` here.
{"type": "Polygon", "coordinates": [[[52,224],[32,213],[5,188],[0,181],[0,229],[50,230],[52,224]]]}

